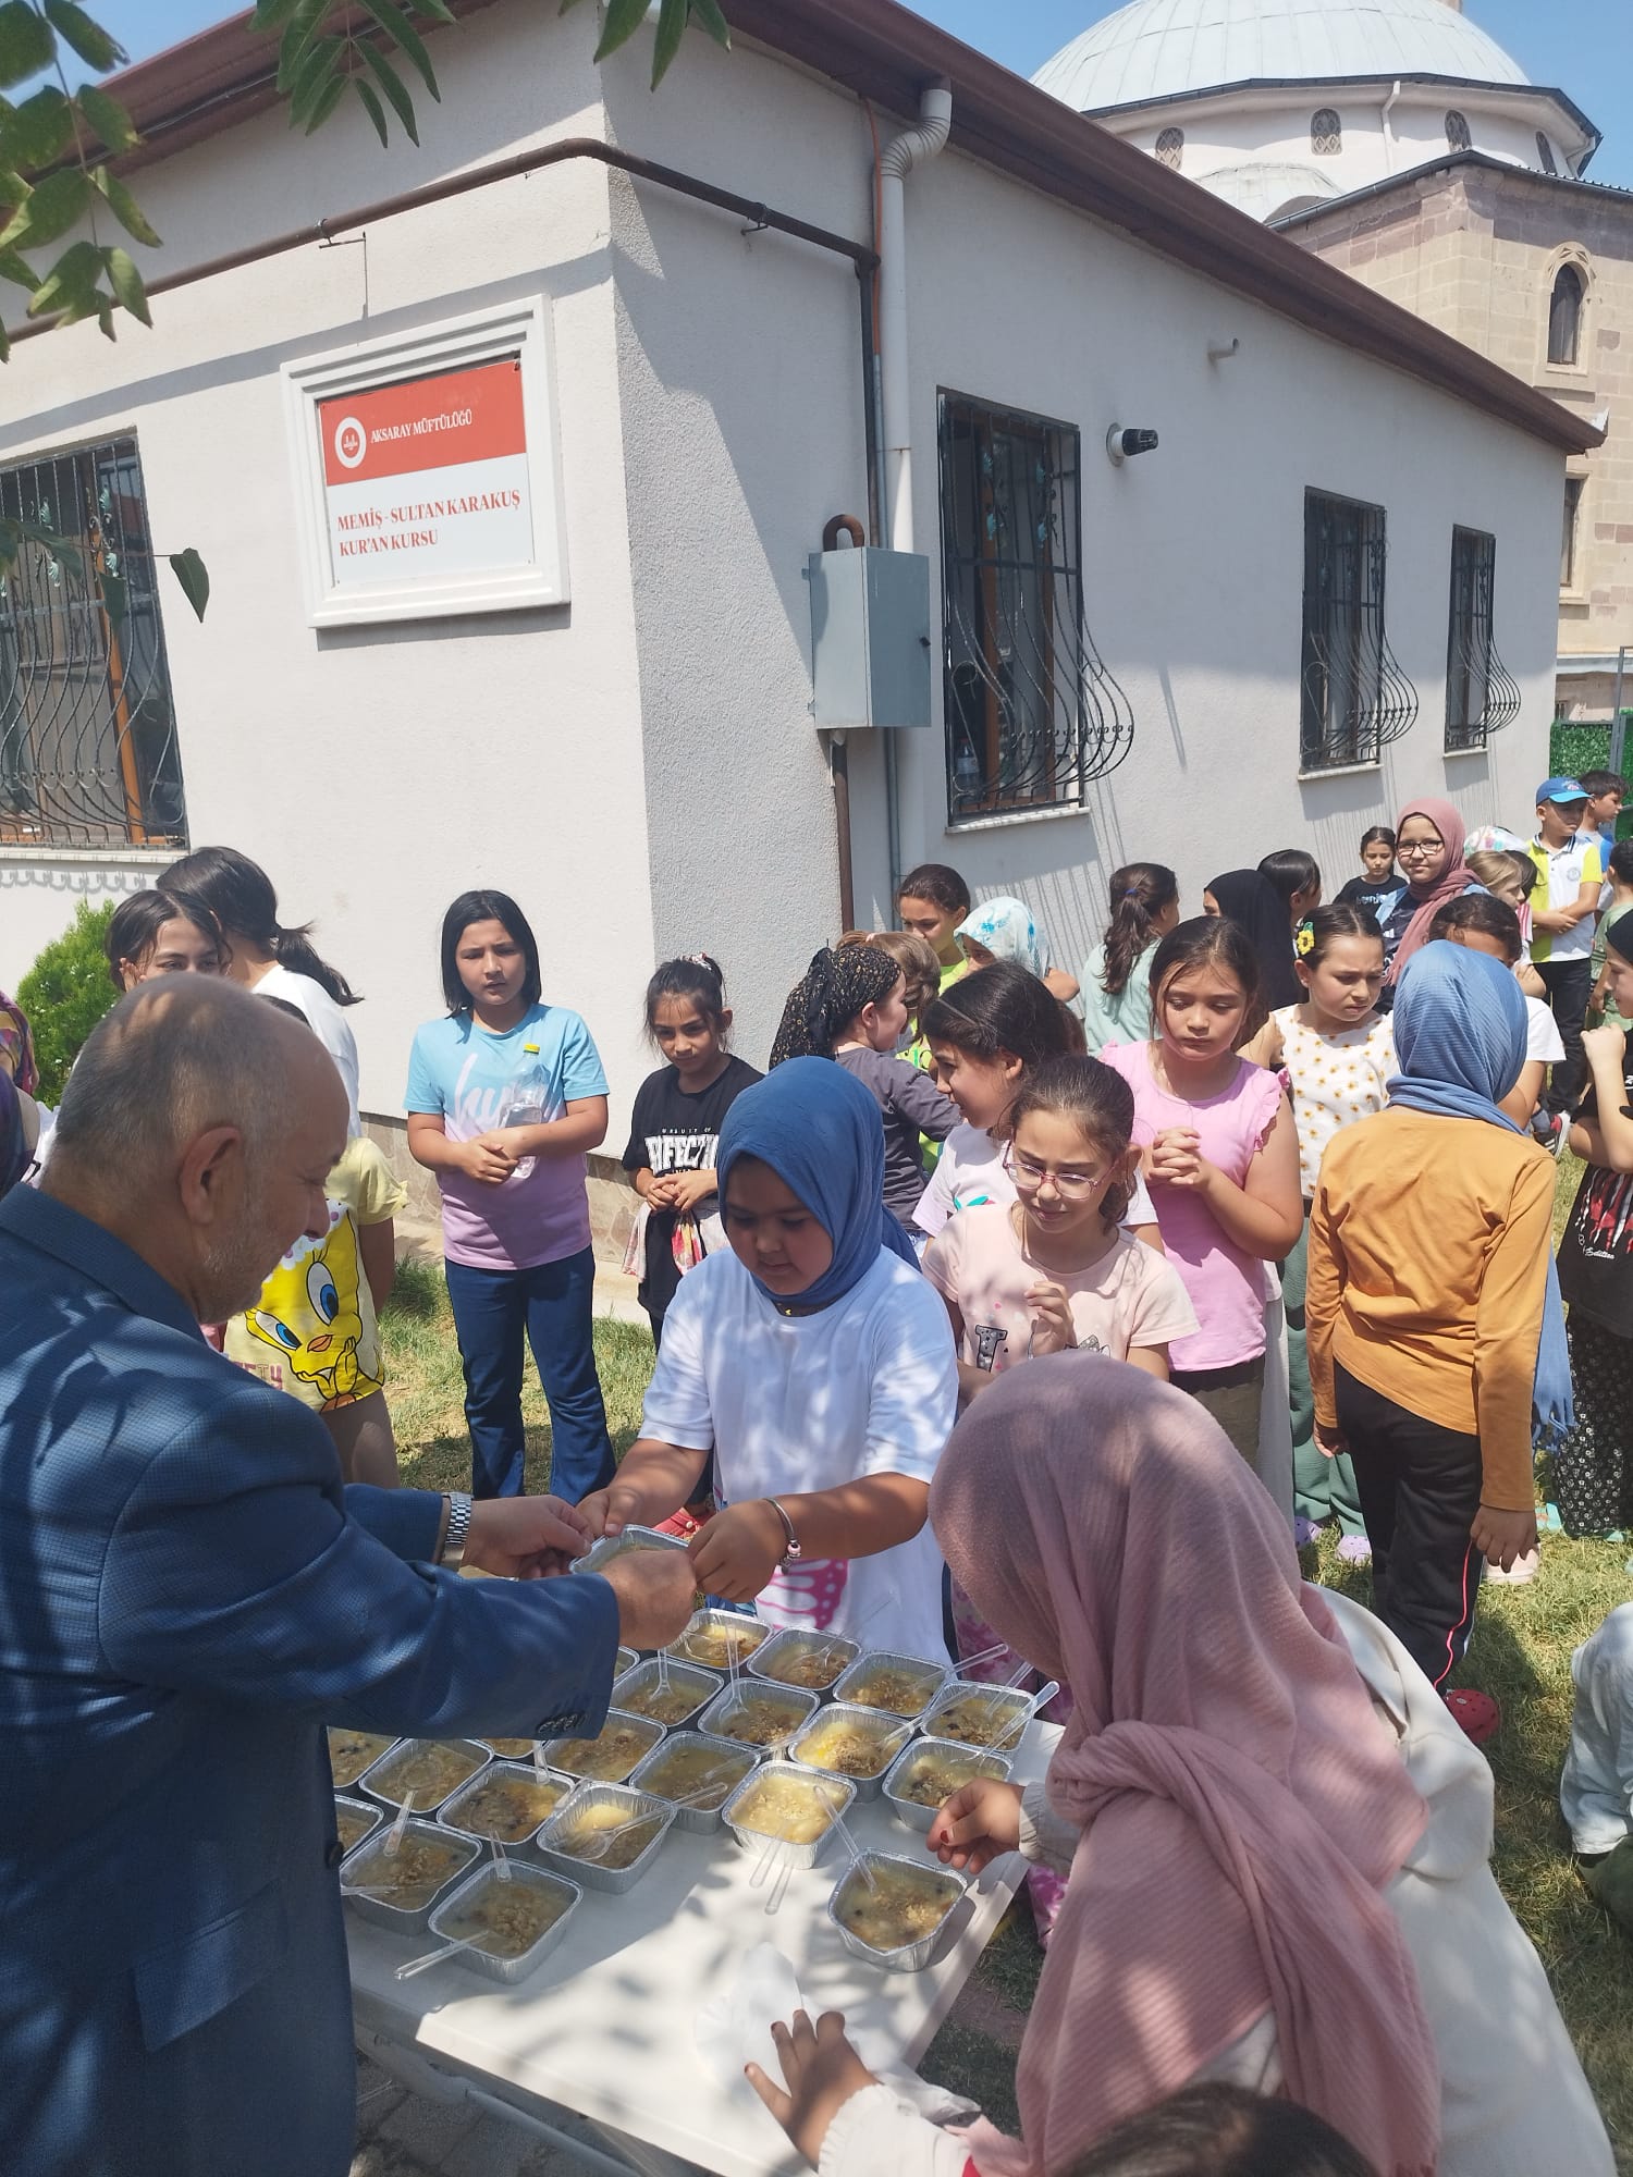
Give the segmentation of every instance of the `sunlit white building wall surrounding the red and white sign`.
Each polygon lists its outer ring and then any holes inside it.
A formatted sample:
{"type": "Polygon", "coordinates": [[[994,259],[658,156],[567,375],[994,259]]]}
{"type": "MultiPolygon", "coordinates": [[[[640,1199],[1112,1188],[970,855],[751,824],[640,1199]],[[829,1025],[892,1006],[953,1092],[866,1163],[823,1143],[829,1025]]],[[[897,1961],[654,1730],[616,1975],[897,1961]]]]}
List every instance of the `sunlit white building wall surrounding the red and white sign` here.
{"type": "MultiPolygon", "coordinates": [[[[361,113],[318,137],[283,113],[142,172],[165,272],[557,135],[599,135],[594,13],[494,9],[438,39],[444,102],[390,155],[361,113]]],[[[472,884],[518,897],[547,993],[586,1014],[623,1095],[647,1058],[651,949],[640,697],[625,527],[607,176],[562,165],[161,296],[122,322],[15,348],[0,462],[135,431],[161,551],[211,568],[198,625],[161,570],[194,845],[272,873],[285,923],[366,1004],[366,1110],[398,1112],[418,1021],[440,1012],[438,930],[472,884]],[[300,594],[279,366],[479,305],[551,298],[568,607],[314,631],[300,594]]],[[[142,858],[0,849],[0,986],[72,914],[74,884],[150,882],[142,858]]],[[[150,858],[163,866],[170,856],[150,858]]]]}

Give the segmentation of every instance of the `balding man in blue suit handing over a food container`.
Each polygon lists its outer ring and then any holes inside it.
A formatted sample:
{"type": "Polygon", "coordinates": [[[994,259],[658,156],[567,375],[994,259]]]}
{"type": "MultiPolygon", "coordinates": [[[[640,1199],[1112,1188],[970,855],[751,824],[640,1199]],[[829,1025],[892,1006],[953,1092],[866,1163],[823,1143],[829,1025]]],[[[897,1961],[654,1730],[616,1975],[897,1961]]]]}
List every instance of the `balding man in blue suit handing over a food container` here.
{"type": "Polygon", "coordinates": [[[540,1578],[584,1535],[549,1498],[346,1489],[316,1413],[202,1341],[327,1230],[344,1139],[307,1028],[168,975],[85,1045],[44,1189],[0,1204],[9,2177],[344,2177],[322,1726],[594,1733],[618,1639],[692,1604],[668,1552],[540,1578]]]}

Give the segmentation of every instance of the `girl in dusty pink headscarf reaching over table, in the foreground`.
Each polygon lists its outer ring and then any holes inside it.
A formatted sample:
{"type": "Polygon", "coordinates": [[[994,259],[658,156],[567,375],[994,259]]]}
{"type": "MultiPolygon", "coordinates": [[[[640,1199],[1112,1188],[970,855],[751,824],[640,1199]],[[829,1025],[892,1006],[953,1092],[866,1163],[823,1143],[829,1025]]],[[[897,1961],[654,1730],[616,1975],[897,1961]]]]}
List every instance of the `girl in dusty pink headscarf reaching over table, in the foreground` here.
{"type": "Polygon", "coordinates": [[[1184,1393],[1071,1356],[947,1443],[954,1578],[1076,1696],[1047,1781],[973,1785],[930,1846],[1069,1870],[1021,2044],[1023,2140],[934,2131],[827,2027],[751,2073],[823,2177],[1060,2177],[1200,2079],[1285,2094],[1378,2177],[1609,2177],[1542,1964],[1487,1866],[1491,1772],[1184,1393]],[[1206,1513],[1200,1513],[1206,1506],[1206,1513]]]}

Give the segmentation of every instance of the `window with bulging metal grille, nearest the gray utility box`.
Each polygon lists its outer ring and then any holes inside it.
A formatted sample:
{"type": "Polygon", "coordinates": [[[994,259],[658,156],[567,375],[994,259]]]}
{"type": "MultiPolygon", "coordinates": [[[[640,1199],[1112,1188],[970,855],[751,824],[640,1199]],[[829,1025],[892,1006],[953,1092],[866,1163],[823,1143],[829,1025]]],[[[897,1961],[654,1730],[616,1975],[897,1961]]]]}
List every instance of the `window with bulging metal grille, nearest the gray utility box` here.
{"type": "Polygon", "coordinates": [[[1078,431],[941,396],[947,812],[1071,808],[1134,740],[1082,601],[1078,431]]]}

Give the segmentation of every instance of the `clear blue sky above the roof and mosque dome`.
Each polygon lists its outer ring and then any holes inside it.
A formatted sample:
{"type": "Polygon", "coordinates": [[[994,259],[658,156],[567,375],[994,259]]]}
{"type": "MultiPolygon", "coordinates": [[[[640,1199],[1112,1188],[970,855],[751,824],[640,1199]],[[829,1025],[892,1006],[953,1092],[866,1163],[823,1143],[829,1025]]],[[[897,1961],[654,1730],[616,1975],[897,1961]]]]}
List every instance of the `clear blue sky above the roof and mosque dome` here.
{"type": "MultiPolygon", "coordinates": [[[[536,0],[544,4],[544,0],[536,0]]],[[[1100,0],[914,0],[917,13],[954,37],[991,52],[1030,76],[1108,4],[1100,0]]],[[[133,59],[174,46],[220,22],[222,0],[89,0],[98,22],[133,59]]],[[[1592,165],[1594,181],[1633,187],[1633,7],[1629,0],[1465,0],[1468,15],[1505,46],[1533,83],[1570,91],[1607,142],[1592,165]]],[[[727,15],[732,0],[725,0],[727,15]]]]}

